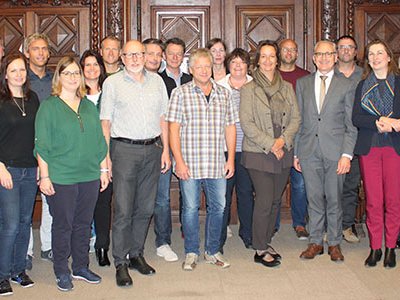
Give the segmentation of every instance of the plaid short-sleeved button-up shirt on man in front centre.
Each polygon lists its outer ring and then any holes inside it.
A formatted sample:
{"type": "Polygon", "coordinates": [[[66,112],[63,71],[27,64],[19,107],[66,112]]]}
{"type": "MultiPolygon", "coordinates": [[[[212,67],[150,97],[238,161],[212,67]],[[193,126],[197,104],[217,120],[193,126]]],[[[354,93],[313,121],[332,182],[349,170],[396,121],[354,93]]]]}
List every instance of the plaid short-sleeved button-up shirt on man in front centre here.
{"type": "Polygon", "coordinates": [[[209,102],[194,81],[176,88],[169,101],[166,120],[181,125],[182,156],[192,179],[225,176],[225,127],[239,121],[229,91],[212,85],[209,102]]]}

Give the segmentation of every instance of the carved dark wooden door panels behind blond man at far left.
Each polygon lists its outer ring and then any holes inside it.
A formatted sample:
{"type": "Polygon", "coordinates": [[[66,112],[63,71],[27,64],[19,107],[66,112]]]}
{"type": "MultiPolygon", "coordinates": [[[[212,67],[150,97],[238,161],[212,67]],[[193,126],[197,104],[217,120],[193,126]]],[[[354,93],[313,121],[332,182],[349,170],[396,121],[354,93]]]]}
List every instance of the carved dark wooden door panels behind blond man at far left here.
{"type": "Polygon", "coordinates": [[[45,33],[49,37],[49,65],[53,67],[60,57],[79,57],[89,49],[90,5],[82,4],[83,1],[68,5],[58,2],[40,5],[30,1],[0,2],[0,35],[5,42],[6,54],[22,52],[24,38],[34,32],[45,33]]]}

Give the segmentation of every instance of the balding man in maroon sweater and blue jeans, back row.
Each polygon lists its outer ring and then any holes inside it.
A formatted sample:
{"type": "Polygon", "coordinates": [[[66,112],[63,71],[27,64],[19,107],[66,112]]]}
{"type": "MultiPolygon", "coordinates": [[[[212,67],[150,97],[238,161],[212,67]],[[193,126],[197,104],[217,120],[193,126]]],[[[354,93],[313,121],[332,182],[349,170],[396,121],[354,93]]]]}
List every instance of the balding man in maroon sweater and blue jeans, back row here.
{"type": "MultiPolygon", "coordinates": [[[[310,72],[296,65],[298,54],[297,43],[292,39],[284,39],[279,43],[280,65],[279,72],[283,80],[290,82],[296,90],[296,81],[310,72]]],[[[301,172],[295,168],[290,170],[290,208],[292,213],[292,226],[299,240],[307,240],[306,230],[307,217],[307,194],[304,185],[304,178],[301,172]]],[[[279,227],[280,216],[278,214],[277,225],[279,227]]]]}

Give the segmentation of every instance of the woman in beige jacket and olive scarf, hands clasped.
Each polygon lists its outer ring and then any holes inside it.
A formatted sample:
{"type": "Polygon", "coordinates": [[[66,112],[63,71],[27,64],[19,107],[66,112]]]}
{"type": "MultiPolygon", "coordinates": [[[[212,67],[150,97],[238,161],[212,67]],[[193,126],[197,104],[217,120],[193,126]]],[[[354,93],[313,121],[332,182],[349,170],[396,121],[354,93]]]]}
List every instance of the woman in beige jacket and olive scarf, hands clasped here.
{"type": "Polygon", "coordinates": [[[254,261],[276,267],[281,256],[270,243],[293,162],[293,140],[300,115],[291,84],[277,70],[277,44],[261,41],[255,61],[253,81],[242,87],[240,93],[242,165],[249,171],[256,192],[252,226],[254,261]]]}

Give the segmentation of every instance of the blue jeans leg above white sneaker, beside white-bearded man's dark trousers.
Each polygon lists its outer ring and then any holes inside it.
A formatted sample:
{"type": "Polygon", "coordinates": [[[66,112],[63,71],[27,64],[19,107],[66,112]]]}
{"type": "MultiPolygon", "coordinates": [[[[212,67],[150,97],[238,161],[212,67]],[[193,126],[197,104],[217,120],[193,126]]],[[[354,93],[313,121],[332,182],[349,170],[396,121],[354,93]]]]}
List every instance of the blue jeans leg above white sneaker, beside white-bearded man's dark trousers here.
{"type": "Polygon", "coordinates": [[[156,234],[156,247],[171,244],[171,205],[170,205],[170,186],[171,169],[165,174],[160,174],[158,180],[157,198],[154,206],[154,232],[156,234]]]}

